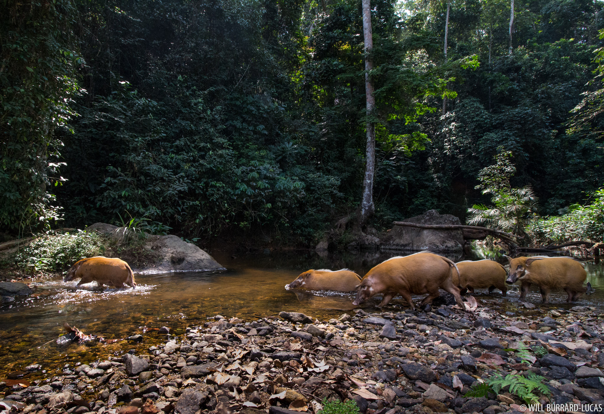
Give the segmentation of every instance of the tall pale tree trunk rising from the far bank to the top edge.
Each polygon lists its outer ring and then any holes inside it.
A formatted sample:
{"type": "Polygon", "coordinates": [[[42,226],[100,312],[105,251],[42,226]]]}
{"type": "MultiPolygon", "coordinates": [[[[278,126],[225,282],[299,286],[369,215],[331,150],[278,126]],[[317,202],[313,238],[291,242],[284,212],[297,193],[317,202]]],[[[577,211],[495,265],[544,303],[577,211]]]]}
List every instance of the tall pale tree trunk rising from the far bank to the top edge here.
{"type": "Polygon", "coordinates": [[[365,177],[363,180],[363,198],[359,208],[358,226],[362,226],[373,215],[373,176],[375,173],[376,133],[371,120],[376,106],[373,80],[369,72],[373,69],[371,49],[373,35],[371,33],[371,4],[370,0],[363,2],[363,35],[365,38],[365,101],[367,104],[367,150],[365,151],[365,177]]]}

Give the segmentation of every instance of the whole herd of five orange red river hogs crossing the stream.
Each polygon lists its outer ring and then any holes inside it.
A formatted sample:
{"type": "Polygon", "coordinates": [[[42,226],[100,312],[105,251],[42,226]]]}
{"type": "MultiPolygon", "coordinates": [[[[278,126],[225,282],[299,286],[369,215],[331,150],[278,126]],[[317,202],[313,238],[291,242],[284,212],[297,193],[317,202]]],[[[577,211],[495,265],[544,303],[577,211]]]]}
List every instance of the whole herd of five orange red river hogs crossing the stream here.
{"type": "MultiPolygon", "coordinates": [[[[400,295],[413,310],[411,295],[425,295],[420,306],[439,297],[439,289],[451,293],[457,304],[464,309],[461,295],[474,288],[495,288],[506,296],[507,284],[520,282],[520,300],[524,301],[528,288],[538,285],[547,304],[551,289],[562,289],[568,294],[567,302],[577,299],[586,288],[583,282],[587,277],[579,261],[570,257],[517,257],[505,256],[509,261],[510,271],[493,260],[461,261],[454,263],[446,257],[430,252],[414,253],[408,256],[396,256],[383,261],[369,270],[364,278],[349,269],[342,270],[308,270],[302,273],[286,288],[303,288],[307,290],[356,291],[354,305],[360,305],[376,295],[383,295],[380,307],[384,307],[400,295]]],[[[63,281],[81,278],[77,284],[82,285],[97,281],[99,285],[115,287],[136,287],[130,266],[118,258],[97,256],[78,261],[69,269],[63,281]]]]}

